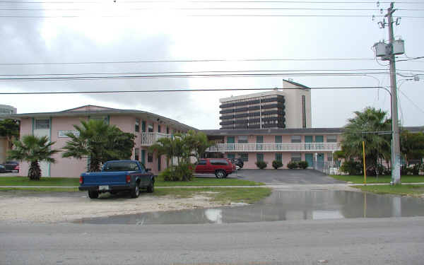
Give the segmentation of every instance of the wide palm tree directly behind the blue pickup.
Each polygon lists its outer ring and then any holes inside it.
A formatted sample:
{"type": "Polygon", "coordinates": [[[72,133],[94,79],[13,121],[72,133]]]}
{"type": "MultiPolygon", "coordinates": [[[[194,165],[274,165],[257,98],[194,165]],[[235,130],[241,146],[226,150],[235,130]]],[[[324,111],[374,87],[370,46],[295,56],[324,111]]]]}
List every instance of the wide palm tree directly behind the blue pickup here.
{"type": "Polygon", "coordinates": [[[134,148],[135,135],[124,133],[117,126],[110,126],[100,119],[81,121],[73,125],[78,134],[66,134],[71,138],[64,146],[64,158],[88,158],[88,172],[100,171],[107,160],[128,159],[134,148]]]}

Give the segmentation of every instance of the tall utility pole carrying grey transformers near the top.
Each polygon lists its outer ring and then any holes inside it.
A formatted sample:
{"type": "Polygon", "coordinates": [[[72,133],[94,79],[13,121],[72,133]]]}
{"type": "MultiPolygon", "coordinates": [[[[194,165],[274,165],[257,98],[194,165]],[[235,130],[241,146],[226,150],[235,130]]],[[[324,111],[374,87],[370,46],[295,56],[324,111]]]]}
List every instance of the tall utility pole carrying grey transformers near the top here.
{"type": "MultiPolygon", "coordinates": [[[[391,184],[401,184],[401,146],[398,122],[397,107],[397,88],[396,88],[396,55],[404,54],[404,40],[394,40],[393,36],[393,13],[394,2],[387,8],[387,14],[384,16],[388,22],[383,19],[379,22],[380,28],[386,25],[389,28],[389,43],[375,43],[375,55],[382,57],[382,60],[389,61],[390,64],[390,90],[391,90],[391,184]]],[[[396,19],[396,25],[399,25],[400,18],[396,19]]]]}

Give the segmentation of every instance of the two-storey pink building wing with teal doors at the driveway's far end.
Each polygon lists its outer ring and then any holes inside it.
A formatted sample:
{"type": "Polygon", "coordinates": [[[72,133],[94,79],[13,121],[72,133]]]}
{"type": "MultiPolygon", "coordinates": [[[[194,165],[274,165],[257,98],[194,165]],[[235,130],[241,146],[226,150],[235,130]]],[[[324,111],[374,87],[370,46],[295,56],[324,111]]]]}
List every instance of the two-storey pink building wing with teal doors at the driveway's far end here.
{"type": "Polygon", "coordinates": [[[290,161],[305,160],[310,165],[333,162],[333,153],[340,150],[342,128],[302,129],[220,129],[204,130],[216,146],[210,155],[242,158],[243,168],[257,168],[257,161],[280,160],[283,168],[290,161]]]}

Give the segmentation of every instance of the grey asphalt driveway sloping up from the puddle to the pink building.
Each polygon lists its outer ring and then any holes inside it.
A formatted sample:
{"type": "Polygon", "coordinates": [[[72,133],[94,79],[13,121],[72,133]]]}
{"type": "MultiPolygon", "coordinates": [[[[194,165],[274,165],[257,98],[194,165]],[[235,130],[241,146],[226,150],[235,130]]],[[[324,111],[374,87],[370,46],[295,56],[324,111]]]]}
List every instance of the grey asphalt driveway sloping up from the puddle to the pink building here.
{"type": "MultiPolygon", "coordinates": [[[[230,175],[230,177],[232,177],[230,175]]],[[[238,177],[266,184],[336,184],[336,180],[317,170],[238,170],[238,177]]]]}

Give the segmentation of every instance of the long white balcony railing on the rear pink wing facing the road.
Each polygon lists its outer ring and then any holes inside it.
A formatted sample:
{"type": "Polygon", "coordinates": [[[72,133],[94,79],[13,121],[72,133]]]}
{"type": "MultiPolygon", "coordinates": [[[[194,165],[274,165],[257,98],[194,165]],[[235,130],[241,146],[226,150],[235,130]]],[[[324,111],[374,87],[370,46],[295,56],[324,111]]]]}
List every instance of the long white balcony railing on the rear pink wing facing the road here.
{"type": "Polygon", "coordinates": [[[340,143],[218,143],[207,152],[300,152],[338,151],[340,143]]]}

